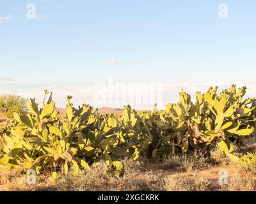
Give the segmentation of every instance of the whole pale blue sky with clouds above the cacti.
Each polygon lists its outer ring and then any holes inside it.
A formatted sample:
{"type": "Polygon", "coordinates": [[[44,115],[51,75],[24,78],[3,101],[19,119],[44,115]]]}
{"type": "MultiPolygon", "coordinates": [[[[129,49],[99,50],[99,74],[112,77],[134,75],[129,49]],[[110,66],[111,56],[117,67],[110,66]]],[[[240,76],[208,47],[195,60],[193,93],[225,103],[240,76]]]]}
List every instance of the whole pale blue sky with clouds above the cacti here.
{"type": "Polygon", "coordinates": [[[72,95],[76,106],[134,108],[177,102],[182,88],[237,84],[256,96],[255,10],[253,0],[0,0],[0,94],[41,102],[49,89],[61,107],[72,95]]]}

